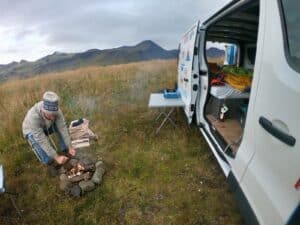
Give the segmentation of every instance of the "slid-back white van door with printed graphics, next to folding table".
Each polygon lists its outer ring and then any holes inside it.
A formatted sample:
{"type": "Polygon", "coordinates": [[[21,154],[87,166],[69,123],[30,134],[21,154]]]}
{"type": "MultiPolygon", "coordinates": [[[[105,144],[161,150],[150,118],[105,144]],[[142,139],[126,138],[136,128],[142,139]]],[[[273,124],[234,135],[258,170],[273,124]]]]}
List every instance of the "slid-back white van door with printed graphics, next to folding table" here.
{"type": "Polygon", "coordinates": [[[197,43],[199,42],[199,22],[186,32],[179,43],[178,89],[185,103],[184,111],[188,123],[192,122],[195,102],[199,89],[199,65],[197,43]]]}

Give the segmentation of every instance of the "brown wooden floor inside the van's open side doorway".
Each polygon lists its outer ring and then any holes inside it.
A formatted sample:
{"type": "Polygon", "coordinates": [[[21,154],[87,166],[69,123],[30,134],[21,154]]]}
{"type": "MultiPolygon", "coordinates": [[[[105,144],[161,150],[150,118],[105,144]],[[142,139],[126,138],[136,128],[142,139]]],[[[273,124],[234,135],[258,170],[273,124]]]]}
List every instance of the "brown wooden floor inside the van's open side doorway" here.
{"type": "Polygon", "coordinates": [[[220,133],[227,144],[230,144],[232,153],[235,155],[243,134],[243,128],[236,119],[225,119],[224,122],[218,120],[213,115],[207,115],[212,126],[220,133]]]}

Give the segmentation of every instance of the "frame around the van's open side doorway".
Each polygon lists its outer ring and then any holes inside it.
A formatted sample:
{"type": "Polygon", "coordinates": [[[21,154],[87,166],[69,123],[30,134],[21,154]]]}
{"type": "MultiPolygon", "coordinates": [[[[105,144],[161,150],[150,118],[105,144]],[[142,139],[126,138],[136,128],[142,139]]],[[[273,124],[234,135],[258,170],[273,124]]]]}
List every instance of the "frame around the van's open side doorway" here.
{"type": "MultiPolygon", "coordinates": [[[[206,141],[209,143],[215,157],[217,158],[225,176],[227,177],[229,175],[229,172],[232,171],[235,175],[235,177],[237,178],[238,181],[240,181],[247,169],[247,166],[249,165],[253,155],[254,155],[254,148],[253,146],[251,147],[251,149],[247,149],[246,145],[249,144],[249,142],[252,141],[246,141],[243,138],[243,141],[240,145],[240,149],[237,152],[235,158],[232,158],[230,156],[228,156],[224,151],[223,148],[219,145],[219,142],[216,140],[215,136],[212,134],[211,132],[211,127],[209,122],[207,121],[207,119],[205,118],[205,104],[206,104],[206,100],[208,97],[208,92],[210,90],[209,87],[209,75],[208,75],[208,68],[207,68],[207,62],[206,62],[206,58],[205,58],[205,54],[206,54],[206,49],[205,49],[205,44],[206,44],[206,35],[207,35],[207,29],[214,24],[216,21],[220,20],[221,18],[223,18],[223,16],[234,12],[234,11],[238,11],[240,7],[243,7],[244,5],[248,4],[249,0],[247,1],[241,1],[241,2],[235,2],[235,4],[232,4],[231,7],[228,7],[228,10],[225,10],[223,12],[221,12],[218,15],[215,15],[213,17],[211,17],[210,19],[208,19],[206,22],[204,22],[204,24],[202,24],[201,28],[200,28],[200,32],[201,32],[201,40],[199,42],[199,52],[201,53],[199,55],[199,63],[200,63],[200,70],[201,71],[206,71],[206,74],[204,76],[200,76],[200,91],[199,91],[199,96],[196,100],[196,122],[197,125],[200,128],[200,131],[202,132],[202,134],[204,135],[206,141]],[[200,97],[201,96],[201,97],[200,97]],[[204,98],[202,98],[202,96],[205,96],[204,98]],[[242,147],[242,148],[241,148],[242,147]],[[242,151],[241,151],[242,150],[242,151]],[[243,152],[243,154],[241,154],[243,152]]],[[[259,24],[261,24],[261,21],[263,20],[263,18],[259,19],[259,24]]],[[[259,42],[259,37],[262,35],[262,31],[260,28],[260,25],[258,27],[258,39],[257,39],[257,44],[259,42]],[[261,34],[259,34],[261,33],[261,34]]],[[[258,52],[256,52],[256,56],[257,54],[259,54],[258,52]]],[[[254,77],[255,74],[258,73],[259,71],[259,64],[257,62],[257,59],[255,61],[255,65],[254,67],[256,67],[256,72],[254,72],[254,77]]],[[[255,85],[253,83],[253,85],[255,85]]],[[[251,92],[250,94],[250,102],[249,105],[252,105],[254,107],[255,105],[255,92],[251,92]]],[[[253,108],[251,107],[251,109],[253,108]]],[[[249,110],[251,112],[251,109],[249,110]]],[[[250,113],[249,112],[249,113],[250,113]]],[[[247,121],[249,120],[249,115],[247,116],[247,121]]],[[[251,123],[246,122],[246,126],[245,126],[245,130],[247,130],[247,136],[252,136],[252,127],[249,126],[251,125],[251,123]],[[248,125],[247,125],[248,124],[248,125]],[[247,129],[248,127],[248,129],[247,129]]],[[[244,137],[245,137],[245,133],[244,133],[244,137]]],[[[252,140],[252,138],[250,140],[252,140]]]]}

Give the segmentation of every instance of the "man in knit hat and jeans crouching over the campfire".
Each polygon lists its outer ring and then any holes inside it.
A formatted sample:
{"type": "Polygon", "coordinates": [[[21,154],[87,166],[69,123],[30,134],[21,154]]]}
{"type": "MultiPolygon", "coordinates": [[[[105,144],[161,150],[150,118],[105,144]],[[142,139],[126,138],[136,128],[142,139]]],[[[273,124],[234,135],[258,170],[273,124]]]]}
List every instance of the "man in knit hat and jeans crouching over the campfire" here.
{"type": "Polygon", "coordinates": [[[56,132],[60,140],[61,151],[75,156],[70,136],[61,110],[59,97],[51,91],[43,95],[43,101],[36,103],[26,114],[23,121],[23,135],[29,142],[38,159],[45,165],[53,162],[64,164],[68,157],[59,155],[51,143],[49,135],[56,132]]]}

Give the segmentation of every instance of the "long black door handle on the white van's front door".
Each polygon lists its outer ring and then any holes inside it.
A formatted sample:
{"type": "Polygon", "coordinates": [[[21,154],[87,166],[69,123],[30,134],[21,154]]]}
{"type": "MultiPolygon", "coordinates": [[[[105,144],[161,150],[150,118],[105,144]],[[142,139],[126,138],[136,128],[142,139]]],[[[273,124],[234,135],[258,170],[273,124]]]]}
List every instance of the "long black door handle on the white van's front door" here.
{"type": "Polygon", "coordinates": [[[259,118],[259,124],[268,131],[271,135],[279,139],[280,141],[284,142],[289,146],[294,146],[296,143],[296,139],[287,134],[286,132],[280,130],[279,128],[273,126],[272,122],[266,119],[265,117],[261,116],[259,118]]]}

